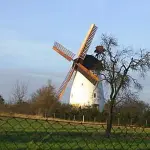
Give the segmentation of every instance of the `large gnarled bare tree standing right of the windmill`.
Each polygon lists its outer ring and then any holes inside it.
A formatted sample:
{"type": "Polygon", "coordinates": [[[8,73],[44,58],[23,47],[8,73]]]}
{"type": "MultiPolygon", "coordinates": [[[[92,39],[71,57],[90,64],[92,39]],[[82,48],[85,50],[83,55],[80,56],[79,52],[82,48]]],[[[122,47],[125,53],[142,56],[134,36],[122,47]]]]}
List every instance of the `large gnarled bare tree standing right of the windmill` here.
{"type": "Polygon", "coordinates": [[[98,46],[95,53],[101,61],[100,65],[97,65],[97,70],[110,88],[109,117],[106,129],[106,135],[109,137],[112,129],[113,110],[119,103],[117,98],[121,91],[133,86],[142,90],[142,85],[133,77],[133,73],[139,73],[141,77],[146,75],[150,69],[150,52],[143,49],[134,52],[131,48],[119,50],[117,40],[107,35],[102,35],[101,45],[103,50],[101,46],[98,46]]]}

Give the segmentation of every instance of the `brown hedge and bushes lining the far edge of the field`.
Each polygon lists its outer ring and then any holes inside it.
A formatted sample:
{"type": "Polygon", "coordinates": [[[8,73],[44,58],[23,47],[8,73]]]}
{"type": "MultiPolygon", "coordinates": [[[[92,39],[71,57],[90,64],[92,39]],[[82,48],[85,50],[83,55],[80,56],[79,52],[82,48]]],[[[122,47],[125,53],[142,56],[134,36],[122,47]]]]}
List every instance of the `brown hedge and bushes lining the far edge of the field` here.
{"type": "MultiPolygon", "coordinates": [[[[27,115],[41,115],[82,121],[106,122],[108,117],[109,101],[103,112],[96,106],[84,108],[60,103],[55,96],[55,89],[49,83],[25,99],[25,86],[18,84],[13,94],[13,102],[6,103],[0,96],[0,112],[19,113],[27,115]]],[[[138,125],[150,127],[150,106],[143,101],[127,98],[114,109],[113,124],[138,125]]]]}

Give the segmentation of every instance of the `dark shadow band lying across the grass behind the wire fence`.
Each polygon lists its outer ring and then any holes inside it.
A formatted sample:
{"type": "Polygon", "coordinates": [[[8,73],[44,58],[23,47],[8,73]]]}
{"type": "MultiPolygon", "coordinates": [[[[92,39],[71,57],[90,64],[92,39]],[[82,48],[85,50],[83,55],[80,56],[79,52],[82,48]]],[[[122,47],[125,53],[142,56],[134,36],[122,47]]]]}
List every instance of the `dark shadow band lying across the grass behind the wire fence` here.
{"type": "MultiPolygon", "coordinates": [[[[5,140],[8,142],[29,142],[30,140],[35,141],[35,142],[50,142],[50,141],[55,141],[57,139],[57,142],[61,142],[62,139],[70,139],[70,138],[77,138],[77,139],[108,139],[105,137],[104,132],[78,132],[78,131],[54,131],[54,132],[40,132],[40,131],[29,131],[29,132],[21,132],[21,131],[3,131],[0,132],[0,141],[5,140]]],[[[113,133],[111,139],[116,139],[118,141],[122,141],[125,139],[148,139],[150,140],[150,134],[146,133],[113,133]]],[[[108,140],[109,140],[108,139],[108,140]]],[[[70,139],[71,140],[71,139],[70,139]]],[[[55,141],[56,142],[56,141],[55,141]]]]}

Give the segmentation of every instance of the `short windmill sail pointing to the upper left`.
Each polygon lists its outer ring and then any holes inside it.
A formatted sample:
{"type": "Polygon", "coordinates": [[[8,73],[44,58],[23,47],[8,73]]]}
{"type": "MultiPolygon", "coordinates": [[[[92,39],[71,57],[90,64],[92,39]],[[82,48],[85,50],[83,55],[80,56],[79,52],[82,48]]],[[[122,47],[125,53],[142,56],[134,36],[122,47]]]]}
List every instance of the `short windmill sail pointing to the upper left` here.
{"type": "Polygon", "coordinates": [[[58,42],[54,43],[53,49],[58,52],[61,56],[66,58],[68,61],[72,61],[75,54],[66,49],[64,46],[59,44],[58,42]]]}

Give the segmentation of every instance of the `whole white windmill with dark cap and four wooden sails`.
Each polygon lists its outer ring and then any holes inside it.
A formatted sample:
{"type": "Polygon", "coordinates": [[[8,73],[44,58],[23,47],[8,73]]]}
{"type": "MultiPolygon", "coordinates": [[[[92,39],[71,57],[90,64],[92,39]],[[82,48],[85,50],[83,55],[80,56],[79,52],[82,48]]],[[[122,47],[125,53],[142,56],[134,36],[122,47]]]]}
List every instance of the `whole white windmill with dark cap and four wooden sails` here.
{"type": "Polygon", "coordinates": [[[100,77],[94,73],[94,67],[100,61],[92,55],[87,55],[87,51],[94,38],[97,27],[92,24],[85,37],[77,55],[55,42],[53,49],[66,58],[73,61],[73,65],[65,80],[61,84],[57,95],[61,99],[68,82],[73,76],[73,84],[70,93],[70,104],[78,106],[99,105],[100,110],[104,107],[104,94],[100,77]]]}

